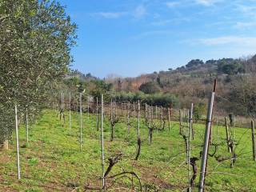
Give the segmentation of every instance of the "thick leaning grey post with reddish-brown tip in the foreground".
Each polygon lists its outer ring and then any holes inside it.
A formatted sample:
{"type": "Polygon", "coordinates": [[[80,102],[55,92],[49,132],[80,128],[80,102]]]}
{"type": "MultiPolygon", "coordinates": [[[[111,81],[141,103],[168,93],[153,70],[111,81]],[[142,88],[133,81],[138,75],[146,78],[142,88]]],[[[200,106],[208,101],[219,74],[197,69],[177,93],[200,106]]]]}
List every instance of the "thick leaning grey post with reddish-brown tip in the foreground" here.
{"type": "Polygon", "coordinates": [[[201,163],[201,171],[200,171],[199,187],[198,187],[199,192],[202,192],[205,186],[207,156],[208,156],[208,150],[209,150],[210,127],[211,127],[212,114],[214,109],[214,96],[215,96],[216,84],[217,84],[217,79],[214,80],[214,90],[211,93],[209,106],[208,106],[206,131],[205,131],[205,138],[204,138],[204,146],[202,150],[202,163],[201,163]]]}

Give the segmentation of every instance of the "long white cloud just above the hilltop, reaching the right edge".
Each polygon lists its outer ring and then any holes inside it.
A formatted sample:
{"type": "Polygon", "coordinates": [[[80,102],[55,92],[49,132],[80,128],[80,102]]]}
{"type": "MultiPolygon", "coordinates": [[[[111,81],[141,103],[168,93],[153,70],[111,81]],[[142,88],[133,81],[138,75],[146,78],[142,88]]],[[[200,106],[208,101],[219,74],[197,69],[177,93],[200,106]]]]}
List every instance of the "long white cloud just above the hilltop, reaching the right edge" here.
{"type": "Polygon", "coordinates": [[[256,37],[240,37],[240,36],[222,36],[218,38],[201,38],[196,42],[206,46],[218,45],[234,45],[234,46],[252,46],[256,48],[256,37]]]}

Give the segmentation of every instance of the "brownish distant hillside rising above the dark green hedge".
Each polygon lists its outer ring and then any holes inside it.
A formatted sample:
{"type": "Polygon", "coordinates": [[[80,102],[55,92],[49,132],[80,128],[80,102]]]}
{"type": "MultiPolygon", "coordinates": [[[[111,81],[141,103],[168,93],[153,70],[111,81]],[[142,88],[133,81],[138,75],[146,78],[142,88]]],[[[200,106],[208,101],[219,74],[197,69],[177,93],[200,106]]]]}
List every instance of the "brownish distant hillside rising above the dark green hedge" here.
{"type": "Polygon", "coordinates": [[[256,55],[239,59],[211,59],[206,62],[194,59],[175,70],[142,74],[137,78],[109,78],[106,82],[111,83],[118,92],[173,94],[181,106],[188,107],[191,102],[206,105],[214,79],[217,78],[217,94],[230,100],[221,102],[218,99],[220,109],[248,114],[249,109],[256,108],[255,74],[256,55]]]}

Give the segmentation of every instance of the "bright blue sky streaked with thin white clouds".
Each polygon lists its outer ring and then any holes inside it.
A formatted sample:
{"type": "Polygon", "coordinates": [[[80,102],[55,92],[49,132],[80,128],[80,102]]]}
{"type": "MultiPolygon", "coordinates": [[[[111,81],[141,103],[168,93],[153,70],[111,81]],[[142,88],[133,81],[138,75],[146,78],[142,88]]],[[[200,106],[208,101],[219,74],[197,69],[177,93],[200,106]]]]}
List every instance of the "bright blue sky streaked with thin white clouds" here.
{"type": "Polygon", "coordinates": [[[134,77],[256,54],[256,0],[60,0],[78,24],[72,68],[134,77]]]}

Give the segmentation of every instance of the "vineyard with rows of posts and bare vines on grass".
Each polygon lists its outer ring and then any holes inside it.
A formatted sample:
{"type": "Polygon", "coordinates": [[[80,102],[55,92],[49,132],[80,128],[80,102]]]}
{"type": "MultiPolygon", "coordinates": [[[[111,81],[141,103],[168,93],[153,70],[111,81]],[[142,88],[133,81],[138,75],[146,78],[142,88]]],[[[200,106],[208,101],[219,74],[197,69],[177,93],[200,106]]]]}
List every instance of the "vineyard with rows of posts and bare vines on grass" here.
{"type": "MultiPolygon", "coordinates": [[[[207,121],[193,122],[193,106],[98,100],[62,94],[35,124],[18,121],[20,179],[14,134],[0,154],[0,190],[198,190],[207,121]]],[[[210,130],[204,191],[256,191],[253,129],[218,117],[210,130]]]]}

